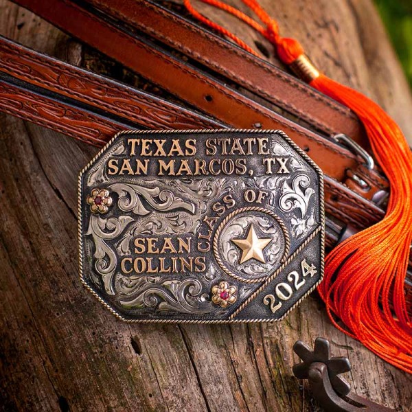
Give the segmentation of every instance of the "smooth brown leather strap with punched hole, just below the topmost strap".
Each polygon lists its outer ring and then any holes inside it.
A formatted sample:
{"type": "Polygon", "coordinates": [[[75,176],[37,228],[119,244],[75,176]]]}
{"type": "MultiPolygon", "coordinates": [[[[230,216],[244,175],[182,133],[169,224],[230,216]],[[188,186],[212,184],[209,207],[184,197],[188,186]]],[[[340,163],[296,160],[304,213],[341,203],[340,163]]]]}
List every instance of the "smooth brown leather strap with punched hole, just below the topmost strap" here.
{"type": "Polygon", "coordinates": [[[365,170],[362,161],[350,150],[254,102],[85,3],[79,5],[66,0],[18,0],[16,3],[230,126],[281,128],[308,152],[325,174],[342,181],[364,198],[371,199],[387,188],[385,179],[378,172],[365,170]],[[122,47],[118,47],[119,44],[122,47]],[[361,176],[368,189],[364,190],[353,179],[347,179],[347,170],[361,176]]]}

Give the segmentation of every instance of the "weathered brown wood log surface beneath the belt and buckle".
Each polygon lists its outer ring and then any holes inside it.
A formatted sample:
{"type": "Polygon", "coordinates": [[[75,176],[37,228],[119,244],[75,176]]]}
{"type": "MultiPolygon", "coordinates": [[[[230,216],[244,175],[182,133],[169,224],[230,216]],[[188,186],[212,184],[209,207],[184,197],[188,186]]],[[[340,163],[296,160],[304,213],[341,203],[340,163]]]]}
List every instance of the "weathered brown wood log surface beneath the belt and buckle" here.
{"type": "MultiPolygon", "coordinates": [[[[376,99],[412,135],[411,93],[371,1],[262,4],[325,73],[376,99]]],[[[260,42],[276,62],[271,46],[243,25],[199,9],[250,45],[260,42]]],[[[75,64],[89,62],[82,45],[6,0],[0,33],[75,64]]],[[[97,61],[94,67],[107,67],[97,61]]],[[[277,324],[115,319],[78,279],[76,181],[95,152],[0,115],[2,411],[320,411],[292,374],[293,343],[312,345],[317,336],[330,339],[334,355],[350,358],[345,377],[354,392],[412,411],[411,376],[336,330],[316,294],[277,324]]]]}

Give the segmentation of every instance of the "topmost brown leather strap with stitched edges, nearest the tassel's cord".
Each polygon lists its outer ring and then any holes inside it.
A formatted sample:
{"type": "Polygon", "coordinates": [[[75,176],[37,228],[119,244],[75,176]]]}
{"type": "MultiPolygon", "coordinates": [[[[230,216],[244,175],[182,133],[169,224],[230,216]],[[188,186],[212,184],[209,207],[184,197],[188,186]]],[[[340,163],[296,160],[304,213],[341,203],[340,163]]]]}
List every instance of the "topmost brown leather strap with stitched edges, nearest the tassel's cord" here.
{"type": "Polygon", "coordinates": [[[282,107],[315,129],[327,135],[344,133],[369,147],[363,127],[350,109],[154,1],[87,2],[282,107]]]}

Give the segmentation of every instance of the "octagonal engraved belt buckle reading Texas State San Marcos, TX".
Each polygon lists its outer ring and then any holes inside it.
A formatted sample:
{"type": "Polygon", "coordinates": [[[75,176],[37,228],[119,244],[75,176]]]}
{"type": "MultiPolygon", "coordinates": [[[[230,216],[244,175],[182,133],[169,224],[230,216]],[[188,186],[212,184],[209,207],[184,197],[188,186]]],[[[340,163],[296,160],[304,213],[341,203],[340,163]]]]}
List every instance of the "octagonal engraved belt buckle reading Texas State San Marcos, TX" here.
{"type": "Polygon", "coordinates": [[[121,132],[79,176],[80,278],[124,321],[280,321],[324,238],[322,172],[281,130],[121,132]]]}

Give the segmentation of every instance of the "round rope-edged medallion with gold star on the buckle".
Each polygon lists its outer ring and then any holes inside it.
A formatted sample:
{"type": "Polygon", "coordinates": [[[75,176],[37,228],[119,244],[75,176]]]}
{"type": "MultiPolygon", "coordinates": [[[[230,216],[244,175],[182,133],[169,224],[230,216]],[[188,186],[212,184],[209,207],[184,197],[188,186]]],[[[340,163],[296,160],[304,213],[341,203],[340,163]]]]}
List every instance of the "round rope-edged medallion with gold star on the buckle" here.
{"type": "Polygon", "coordinates": [[[282,263],[290,247],[282,220],[262,207],[242,207],[222,220],[214,237],[214,255],[227,275],[258,283],[282,263]]]}

